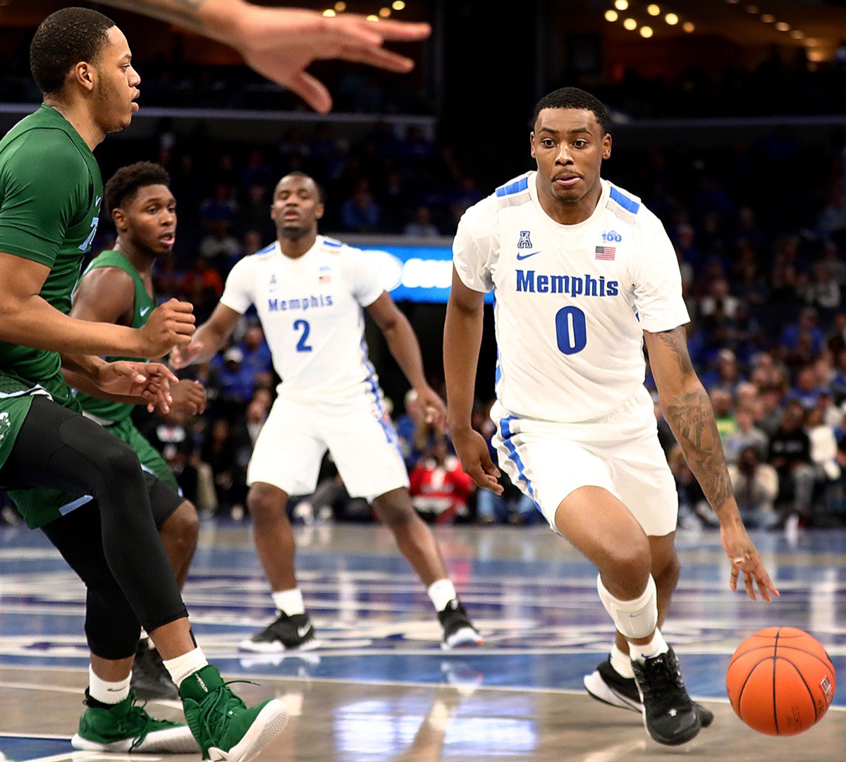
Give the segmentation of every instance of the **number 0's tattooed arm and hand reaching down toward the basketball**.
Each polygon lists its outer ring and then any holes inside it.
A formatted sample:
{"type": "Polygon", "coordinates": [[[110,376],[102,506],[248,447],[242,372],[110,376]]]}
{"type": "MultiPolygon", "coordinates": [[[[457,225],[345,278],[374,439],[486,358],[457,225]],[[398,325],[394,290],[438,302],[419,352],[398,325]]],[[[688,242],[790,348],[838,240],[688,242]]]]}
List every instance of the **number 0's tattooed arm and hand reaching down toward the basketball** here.
{"type": "Polygon", "coordinates": [[[714,410],[690,362],[684,326],[659,333],[645,331],[644,336],[664,417],[720,520],[722,545],[732,562],[731,587],[737,589],[739,574],[744,573],[750,598],[757,597],[757,583],[761,597],[772,600],[770,594],[778,595],[778,591],[740,518],[714,410]]]}

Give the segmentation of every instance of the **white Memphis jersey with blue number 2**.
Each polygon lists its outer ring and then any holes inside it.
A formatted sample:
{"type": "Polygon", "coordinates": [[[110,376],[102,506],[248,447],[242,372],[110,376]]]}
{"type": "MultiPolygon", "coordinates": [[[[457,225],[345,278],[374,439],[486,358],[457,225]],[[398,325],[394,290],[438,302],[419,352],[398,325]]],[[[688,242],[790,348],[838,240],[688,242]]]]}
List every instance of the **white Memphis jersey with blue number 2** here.
{"type": "Polygon", "coordinates": [[[365,252],[318,236],[299,259],[283,255],[278,242],[244,257],[220,301],[242,315],[255,304],[280,395],[332,402],[366,392],[378,404],[362,308],[382,291],[365,252]]]}

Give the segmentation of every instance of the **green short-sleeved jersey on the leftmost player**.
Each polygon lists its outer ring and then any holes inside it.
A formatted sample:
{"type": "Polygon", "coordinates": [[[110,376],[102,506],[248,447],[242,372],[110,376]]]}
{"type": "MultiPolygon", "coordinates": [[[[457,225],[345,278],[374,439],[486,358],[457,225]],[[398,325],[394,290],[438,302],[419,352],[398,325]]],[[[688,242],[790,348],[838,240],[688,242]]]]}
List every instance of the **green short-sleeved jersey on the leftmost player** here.
{"type": "MultiPolygon", "coordinates": [[[[0,251],[50,268],[41,297],[68,314],[100,218],[94,154],[56,109],[42,105],[0,140],[0,251]]],[[[77,409],[57,352],[0,342],[0,392],[43,386],[77,409]]]]}

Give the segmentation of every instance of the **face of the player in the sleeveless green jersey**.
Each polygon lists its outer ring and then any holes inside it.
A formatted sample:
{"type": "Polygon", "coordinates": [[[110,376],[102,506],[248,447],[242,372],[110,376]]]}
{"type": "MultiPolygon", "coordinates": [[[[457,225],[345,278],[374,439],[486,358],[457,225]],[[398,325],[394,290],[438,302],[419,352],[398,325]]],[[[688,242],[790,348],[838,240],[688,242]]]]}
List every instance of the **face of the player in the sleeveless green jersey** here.
{"type": "Polygon", "coordinates": [[[167,185],[145,185],[135,198],[113,213],[118,233],[152,256],[173,251],[176,241],[176,199],[167,185]]]}

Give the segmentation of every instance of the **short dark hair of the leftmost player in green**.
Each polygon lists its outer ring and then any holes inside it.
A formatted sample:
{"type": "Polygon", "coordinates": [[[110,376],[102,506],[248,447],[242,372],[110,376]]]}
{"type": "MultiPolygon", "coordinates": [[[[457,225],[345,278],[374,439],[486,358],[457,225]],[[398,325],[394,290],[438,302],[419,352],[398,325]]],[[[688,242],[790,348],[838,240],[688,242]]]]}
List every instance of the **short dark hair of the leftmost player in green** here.
{"type": "Polygon", "coordinates": [[[44,95],[62,89],[80,61],[96,62],[115,23],[89,8],[62,8],[36,29],[30,45],[32,79],[44,95]]]}

